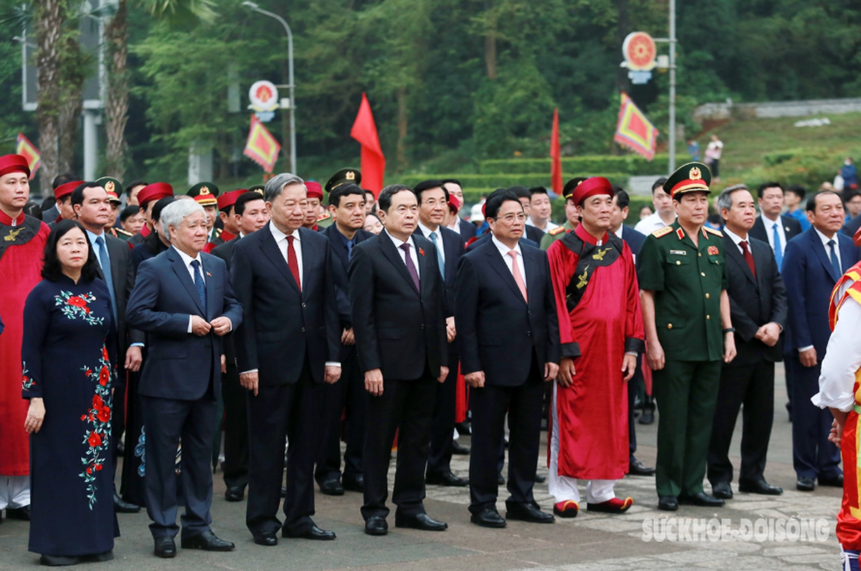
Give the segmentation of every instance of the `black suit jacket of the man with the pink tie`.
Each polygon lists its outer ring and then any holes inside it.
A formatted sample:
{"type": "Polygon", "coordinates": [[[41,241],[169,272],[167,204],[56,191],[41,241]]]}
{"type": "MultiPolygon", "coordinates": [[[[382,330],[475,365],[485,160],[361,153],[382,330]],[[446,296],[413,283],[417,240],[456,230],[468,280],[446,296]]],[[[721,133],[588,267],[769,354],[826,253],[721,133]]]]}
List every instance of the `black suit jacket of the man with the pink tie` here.
{"type": "Polygon", "coordinates": [[[538,365],[559,363],[559,321],[547,252],[520,249],[529,303],[492,241],[461,258],[455,290],[461,372],[483,370],[488,385],[517,386],[538,365]]]}

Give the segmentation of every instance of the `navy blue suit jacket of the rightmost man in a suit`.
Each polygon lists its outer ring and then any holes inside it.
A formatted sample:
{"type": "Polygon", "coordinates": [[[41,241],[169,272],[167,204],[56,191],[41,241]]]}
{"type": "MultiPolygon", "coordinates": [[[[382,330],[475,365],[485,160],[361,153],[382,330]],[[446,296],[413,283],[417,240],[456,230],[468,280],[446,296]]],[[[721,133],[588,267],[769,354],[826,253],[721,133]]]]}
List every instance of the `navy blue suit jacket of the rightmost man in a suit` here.
{"type": "MultiPolygon", "coordinates": [[[[861,259],[861,249],[845,234],[836,233],[834,239],[839,244],[840,265],[848,270],[861,259]]],[[[840,276],[815,227],[809,227],[786,245],[783,276],[790,315],[785,351],[813,345],[821,359],[831,337],[828,302],[840,276]]]]}

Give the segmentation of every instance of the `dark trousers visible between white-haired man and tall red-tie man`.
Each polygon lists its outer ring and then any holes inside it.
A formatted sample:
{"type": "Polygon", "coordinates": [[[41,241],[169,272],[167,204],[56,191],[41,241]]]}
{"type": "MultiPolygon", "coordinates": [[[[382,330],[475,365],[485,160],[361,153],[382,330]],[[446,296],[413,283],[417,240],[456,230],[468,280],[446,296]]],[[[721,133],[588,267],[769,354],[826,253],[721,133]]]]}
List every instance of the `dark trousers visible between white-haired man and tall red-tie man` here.
{"type": "Polygon", "coordinates": [[[224,483],[227,487],[248,485],[248,391],[239,384],[235,363],[227,363],[221,375],[224,401],[224,483]]]}

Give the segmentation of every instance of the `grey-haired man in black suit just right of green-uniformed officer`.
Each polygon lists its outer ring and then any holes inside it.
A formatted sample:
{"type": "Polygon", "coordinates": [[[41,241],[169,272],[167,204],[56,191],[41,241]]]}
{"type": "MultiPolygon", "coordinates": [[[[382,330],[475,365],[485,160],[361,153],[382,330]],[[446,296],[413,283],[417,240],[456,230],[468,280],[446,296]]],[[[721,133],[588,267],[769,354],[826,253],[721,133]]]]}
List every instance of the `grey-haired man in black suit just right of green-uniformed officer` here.
{"type": "Polygon", "coordinates": [[[779,341],[787,319],[786,288],[768,243],[750,236],[756,209],[747,187],[728,187],[718,196],[717,207],[724,220],[727,294],[738,353],[721,369],[709,440],[709,481],[715,498],[733,497],[729,444],[743,403],[739,490],[779,495],[784,490],[765,481],[764,472],[774,419],[774,363],[783,358],[779,341]]]}

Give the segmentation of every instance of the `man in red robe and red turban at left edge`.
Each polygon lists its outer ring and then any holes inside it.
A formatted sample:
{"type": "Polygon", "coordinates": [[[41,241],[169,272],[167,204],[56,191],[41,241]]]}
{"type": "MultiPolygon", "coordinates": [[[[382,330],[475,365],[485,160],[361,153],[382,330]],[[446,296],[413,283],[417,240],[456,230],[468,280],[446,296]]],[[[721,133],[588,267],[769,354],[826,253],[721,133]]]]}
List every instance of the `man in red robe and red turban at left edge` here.
{"type": "Polygon", "coordinates": [[[24,430],[28,401],[21,398],[24,301],[42,279],[47,225],[23,213],[30,169],[21,155],[0,157],[0,510],[29,519],[30,439],[24,430]]]}

